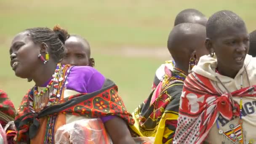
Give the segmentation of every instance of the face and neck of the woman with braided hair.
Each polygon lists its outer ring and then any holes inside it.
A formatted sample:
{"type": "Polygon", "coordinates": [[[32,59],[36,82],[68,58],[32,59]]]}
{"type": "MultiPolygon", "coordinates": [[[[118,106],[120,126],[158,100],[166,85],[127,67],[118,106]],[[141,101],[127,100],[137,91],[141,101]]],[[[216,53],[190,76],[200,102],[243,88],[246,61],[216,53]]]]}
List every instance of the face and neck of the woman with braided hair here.
{"type": "Polygon", "coordinates": [[[27,32],[21,32],[14,37],[10,47],[11,66],[14,61],[19,64],[14,69],[15,75],[21,78],[29,78],[36,85],[43,85],[49,80],[56,68],[57,62],[49,59],[47,64],[38,59],[41,53],[45,56],[47,44],[35,44],[27,32]]]}

